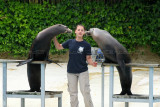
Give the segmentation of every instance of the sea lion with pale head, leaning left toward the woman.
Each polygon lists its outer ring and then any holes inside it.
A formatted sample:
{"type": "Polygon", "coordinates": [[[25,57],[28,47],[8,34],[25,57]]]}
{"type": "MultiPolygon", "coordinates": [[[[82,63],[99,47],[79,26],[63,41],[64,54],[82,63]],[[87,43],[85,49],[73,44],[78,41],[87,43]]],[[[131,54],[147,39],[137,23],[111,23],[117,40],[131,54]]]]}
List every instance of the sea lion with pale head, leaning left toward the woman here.
{"type": "Polygon", "coordinates": [[[120,95],[132,95],[132,71],[131,67],[126,66],[126,63],[131,62],[131,58],[126,50],[111,34],[99,28],[91,28],[86,32],[87,35],[92,36],[98,47],[102,50],[105,63],[117,63],[117,70],[120,76],[122,91],[120,95]]]}

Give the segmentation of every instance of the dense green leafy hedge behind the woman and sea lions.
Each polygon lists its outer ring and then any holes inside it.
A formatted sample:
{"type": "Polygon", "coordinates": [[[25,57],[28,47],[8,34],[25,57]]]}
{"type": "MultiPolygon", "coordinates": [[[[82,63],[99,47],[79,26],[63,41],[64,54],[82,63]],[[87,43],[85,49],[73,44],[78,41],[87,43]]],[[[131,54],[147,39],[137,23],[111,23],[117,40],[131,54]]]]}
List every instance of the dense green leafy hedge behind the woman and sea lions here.
{"type": "MultiPolygon", "coordinates": [[[[105,5],[103,2],[62,2],[50,5],[27,4],[0,0],[0,52],[27,56],[32,41],[41,30],[54,24],[64,24],[74,30],[83,24],[87,30],[97,27],[111,33],[129,51],[137,46],[150,46],[160,55],[160,2],[144,4],[139,0],[124,0],[105,5]]],[[[75,34],[61,34],[63,43],[75,38],[75,34]]],[[[97,46],[91,37],[85,37],[92,46],[97,46]]],[[[50,52],[57,51],[54,44],[50,52]]]]}

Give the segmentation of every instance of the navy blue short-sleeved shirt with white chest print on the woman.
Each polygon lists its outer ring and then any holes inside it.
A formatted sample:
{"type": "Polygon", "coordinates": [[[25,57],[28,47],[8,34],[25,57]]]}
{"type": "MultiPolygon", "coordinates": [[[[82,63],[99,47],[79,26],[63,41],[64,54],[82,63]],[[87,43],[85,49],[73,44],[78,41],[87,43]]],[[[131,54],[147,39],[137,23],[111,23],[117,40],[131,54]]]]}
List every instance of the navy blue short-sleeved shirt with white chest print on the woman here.
{"type": "Polygon", "coordinates": [[[81,73],[88,70],[86,56],[91,55],[91,46],[86,41],[69,39],[62,44],[63,48],[69,49],[68,73],[81,73]]]}

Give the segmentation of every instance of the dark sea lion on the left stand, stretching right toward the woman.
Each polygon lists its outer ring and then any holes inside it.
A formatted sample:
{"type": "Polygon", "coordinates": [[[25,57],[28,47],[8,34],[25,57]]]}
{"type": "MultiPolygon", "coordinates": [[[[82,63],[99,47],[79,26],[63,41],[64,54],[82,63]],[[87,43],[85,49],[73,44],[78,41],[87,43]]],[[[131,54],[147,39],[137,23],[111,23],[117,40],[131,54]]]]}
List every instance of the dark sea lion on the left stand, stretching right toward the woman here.
{"type": "Polygon", "coordinates": [[[38,33],[34,39],[31,49],[29,51],[28,60],[19,62],[17,66],[21,66],[27,63],[27,75],[30,85],[30,91],[40,91],[41,86],[41,68],[40,64],[31,64],[32,61],[49,61],[48,59],[51,41],[53,37],[62,33],[71,33],[67,26],[62,24],[53,25],[38,33]]]}

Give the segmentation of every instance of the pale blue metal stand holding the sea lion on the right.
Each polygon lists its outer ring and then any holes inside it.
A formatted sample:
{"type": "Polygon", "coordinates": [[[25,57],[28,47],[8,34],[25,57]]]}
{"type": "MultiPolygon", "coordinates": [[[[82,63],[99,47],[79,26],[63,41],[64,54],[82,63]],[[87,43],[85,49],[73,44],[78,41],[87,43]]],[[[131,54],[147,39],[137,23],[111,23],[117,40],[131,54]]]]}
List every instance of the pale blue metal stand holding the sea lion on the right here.
{"type": "Polygon", "coordinates": [[[102,105],[104,107],[104,68],[110,67],[109,76],[109,107],[113,107],[113,102],[125,102],[125,107],[129,107],[129,102],[149,103],[149,107],[153,107],[154,102],[160,102],[160,95],[153,95],[153,74],[154,68],[160,68],[160,64],[126,64],[131,67],[149,68],[149,94],[148,95],[115,95],[114,94],[114,66],[118,64],[103,63],[102,64],[102,105]]]}

